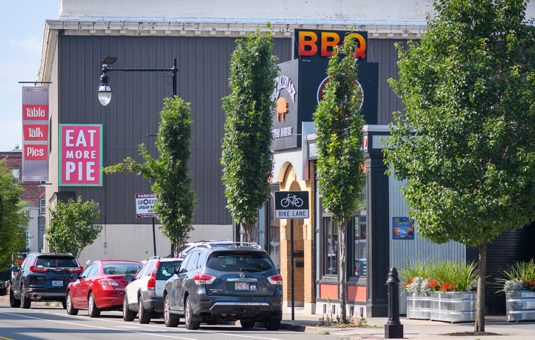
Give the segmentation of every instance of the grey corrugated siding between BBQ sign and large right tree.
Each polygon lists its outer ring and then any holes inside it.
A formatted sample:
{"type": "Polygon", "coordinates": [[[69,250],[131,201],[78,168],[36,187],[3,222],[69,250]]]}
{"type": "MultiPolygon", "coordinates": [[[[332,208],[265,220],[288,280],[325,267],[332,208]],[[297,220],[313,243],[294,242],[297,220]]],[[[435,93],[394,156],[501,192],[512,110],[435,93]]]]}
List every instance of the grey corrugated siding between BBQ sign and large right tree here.
{"type": "Polygon", "coordinates": [[[406,40],[369,39],[368,62],[379,63],[377,124],[386,125],[393,121],[392,112],[403,108],[401,99],[388,84],[389,78],[398,79],[397,52],[394,43],[406,40]]]}

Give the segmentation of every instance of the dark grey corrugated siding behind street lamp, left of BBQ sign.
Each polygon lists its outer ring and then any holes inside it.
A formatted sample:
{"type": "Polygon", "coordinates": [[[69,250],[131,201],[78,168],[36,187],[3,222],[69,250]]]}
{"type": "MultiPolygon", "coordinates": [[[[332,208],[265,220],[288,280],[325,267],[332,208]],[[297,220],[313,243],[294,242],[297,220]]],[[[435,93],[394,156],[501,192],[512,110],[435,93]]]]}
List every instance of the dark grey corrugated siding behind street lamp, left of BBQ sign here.
{"type": "MultiPolygon", "coordinates": [[[[190,168],[197,193],[194,224],[230,224],[221,183],[221,139],[225,113],[221,97],[234,38],[208,37],[59,37],[59,122],[104,124],[104,164],[132,156],[145,143],[156,154],[155,134],[162,99],[172,93],[171,76],[156,72],[110,72],[113,98],[102,107],[96,96],[104,57],[116,56],[117,68],[171,67],[178,62],[178,95],[191,103],[193,139],[190,168]]],[[[291,57],[291,39],[275,39],[281,62],[291,57]]],[[[101,223],[146,223],[135,218],[134,195],[150,192],[150,183],[135,175],[105,175],[104,186],[61,187],[101,203],[101,223]]]]}

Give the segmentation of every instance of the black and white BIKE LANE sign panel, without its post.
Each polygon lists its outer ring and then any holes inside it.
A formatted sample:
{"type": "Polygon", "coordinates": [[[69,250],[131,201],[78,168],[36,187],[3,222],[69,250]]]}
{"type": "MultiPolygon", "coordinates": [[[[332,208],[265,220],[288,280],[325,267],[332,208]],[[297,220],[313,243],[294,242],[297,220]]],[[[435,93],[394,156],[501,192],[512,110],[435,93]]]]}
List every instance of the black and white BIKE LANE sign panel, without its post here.
{"type": "Polygon", "coordinates": [[[276,191],[276,219],[308,218],[308,191],[276,191]]]}

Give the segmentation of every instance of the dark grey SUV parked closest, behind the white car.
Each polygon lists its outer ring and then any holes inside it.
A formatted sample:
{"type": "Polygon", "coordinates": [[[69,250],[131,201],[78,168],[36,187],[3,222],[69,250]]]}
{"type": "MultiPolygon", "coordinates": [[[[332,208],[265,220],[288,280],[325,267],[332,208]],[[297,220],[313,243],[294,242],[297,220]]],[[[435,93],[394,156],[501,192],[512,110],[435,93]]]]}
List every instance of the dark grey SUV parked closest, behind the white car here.
{"type": "Polygon", "coordinates": [[[260,247],[199,245],[165,284],[165,325],[177,326],[184,317],[188,329],[198,329],[201,322],[240,320],[243,328],[262,322],[276,330],[281,302],[282,277],[260,247]]]}

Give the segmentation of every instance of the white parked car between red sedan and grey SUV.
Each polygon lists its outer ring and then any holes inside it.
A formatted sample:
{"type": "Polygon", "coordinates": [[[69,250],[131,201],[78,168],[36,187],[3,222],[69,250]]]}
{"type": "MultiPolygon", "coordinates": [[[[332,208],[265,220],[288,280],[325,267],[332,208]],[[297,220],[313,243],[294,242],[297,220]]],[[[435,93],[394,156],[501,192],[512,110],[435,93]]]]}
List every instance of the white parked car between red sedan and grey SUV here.
{"type": "Polygon", "coordinates": [[[182,259],[154,257],[145,261],[124,291],[123,319],[149,323],[154,315],[163,313],[165,282],[180,268],[182,259]]]}

